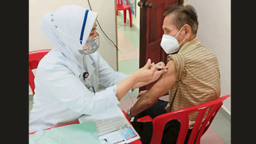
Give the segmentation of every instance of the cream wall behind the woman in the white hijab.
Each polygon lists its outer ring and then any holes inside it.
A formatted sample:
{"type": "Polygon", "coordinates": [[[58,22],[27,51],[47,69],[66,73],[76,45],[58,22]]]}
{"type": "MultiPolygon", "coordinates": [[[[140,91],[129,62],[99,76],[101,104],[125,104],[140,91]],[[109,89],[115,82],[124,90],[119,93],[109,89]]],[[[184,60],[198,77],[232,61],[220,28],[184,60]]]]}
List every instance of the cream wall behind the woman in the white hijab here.
{"type": "MultiPolygon", "coordinates": [[[[91,0],[93,11],[98,12],[98,22],[108,35],[108,37],[116,44],[116,0],[91,0]]],[[[53,48],[53,45],[47,40],[40,29],[41,18],[46,12],[54,12],[54,10],[64,5],[80,5],[89,9],[87,0],[30,0],[29,1],[29,51],[41,50],[45,48],[53,48]]],[[[97,24],[98,25],[98,24],[97,24]]],[[[116,47],[108,41],[104,33],[98,28],[100,35],[100,47],[98,52],[117,70],[117,51],[116,47]]],[[[31,90],[30,90],[30,94],[31,90]]]]}

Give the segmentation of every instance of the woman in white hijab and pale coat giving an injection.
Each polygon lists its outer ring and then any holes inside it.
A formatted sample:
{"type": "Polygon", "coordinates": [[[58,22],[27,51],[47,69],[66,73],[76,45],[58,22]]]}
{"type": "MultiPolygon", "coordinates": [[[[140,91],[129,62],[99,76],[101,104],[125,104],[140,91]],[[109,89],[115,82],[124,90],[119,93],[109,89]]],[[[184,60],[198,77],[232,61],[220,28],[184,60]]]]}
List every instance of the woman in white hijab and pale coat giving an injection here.
{"type": "Polygon", "coordinates": [[[96,51],[100,38],[97,15],[67,5],[43,16],[41,29],[54,48],[37,67],[29,132],[100,113],[117,105],[127,92],[156,81],[167,71],[156,71],[150,60],[132,75],[114,71],[96,51]],[[98,84],[106,89],[95,92],[98,84]]]}

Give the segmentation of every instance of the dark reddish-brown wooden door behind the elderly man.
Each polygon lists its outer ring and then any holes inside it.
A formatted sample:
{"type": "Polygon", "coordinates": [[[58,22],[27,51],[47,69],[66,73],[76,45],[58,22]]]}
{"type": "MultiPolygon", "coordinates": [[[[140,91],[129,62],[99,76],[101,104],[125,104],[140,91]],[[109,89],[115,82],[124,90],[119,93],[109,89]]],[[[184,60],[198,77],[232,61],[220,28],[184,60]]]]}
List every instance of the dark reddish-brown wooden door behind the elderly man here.
{"type": "MultiPolygon", "coordinates": [[[[140,58],[139,67],[146,64],[148,58],[154,63],[165,62],[167,54],[161,48],[161,37],[163,35],[163,12],[169,5],[182,5],[181,0],[140,0],[140,58]]],[[[139,88],[149,90],[153,86],[148,84],[139,88]]]]}

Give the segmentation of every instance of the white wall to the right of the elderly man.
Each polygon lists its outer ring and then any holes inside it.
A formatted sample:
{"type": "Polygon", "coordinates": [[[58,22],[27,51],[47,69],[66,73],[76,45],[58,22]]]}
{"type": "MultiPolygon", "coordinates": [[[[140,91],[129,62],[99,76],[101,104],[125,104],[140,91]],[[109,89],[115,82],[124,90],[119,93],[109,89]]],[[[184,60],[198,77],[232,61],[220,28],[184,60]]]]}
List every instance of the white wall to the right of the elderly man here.
{"type": "MultiPolygon", "coordinates": [[[[218,58],[221,96],[231,94],[231,0],[186,0],[184,5],[186,4],[192,5],[198,14],[198,37],[202,45],[212,50],[218,58]]],[[[231,114],[230,98],[224,101],[223,109],[231,114]]]]}

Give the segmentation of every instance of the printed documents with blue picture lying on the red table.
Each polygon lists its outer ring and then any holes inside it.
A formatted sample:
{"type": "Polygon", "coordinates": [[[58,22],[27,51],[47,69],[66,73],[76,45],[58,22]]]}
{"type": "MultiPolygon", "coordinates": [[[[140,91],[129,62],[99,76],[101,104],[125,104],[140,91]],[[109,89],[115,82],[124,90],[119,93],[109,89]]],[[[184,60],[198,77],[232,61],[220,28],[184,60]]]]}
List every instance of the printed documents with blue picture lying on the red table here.
{"type": "Polygon", "coordinates": [[[119,107],[114,106],[97,115],[83,115],[80,123],[94,121],[101,144],[130,143],[140,138],[119,107]]]}

